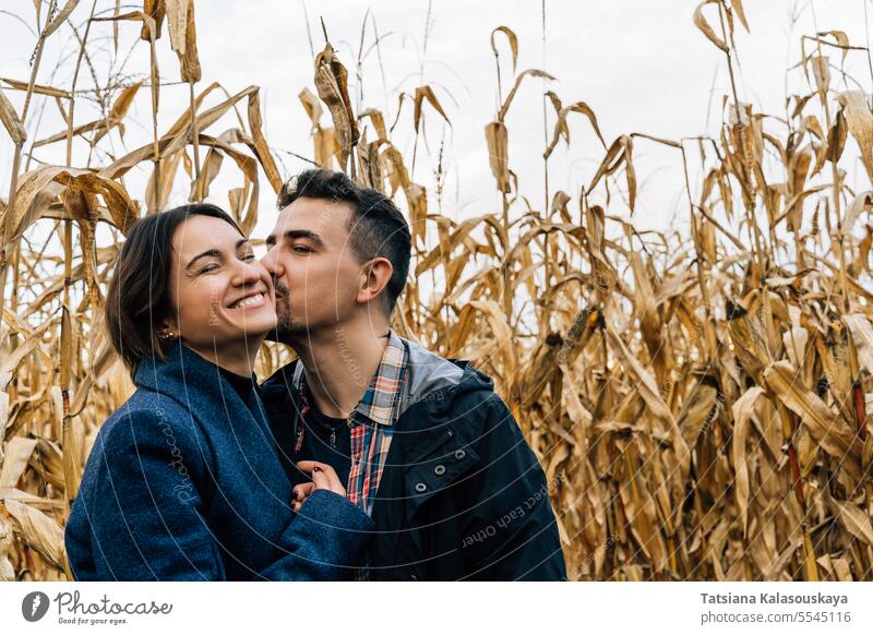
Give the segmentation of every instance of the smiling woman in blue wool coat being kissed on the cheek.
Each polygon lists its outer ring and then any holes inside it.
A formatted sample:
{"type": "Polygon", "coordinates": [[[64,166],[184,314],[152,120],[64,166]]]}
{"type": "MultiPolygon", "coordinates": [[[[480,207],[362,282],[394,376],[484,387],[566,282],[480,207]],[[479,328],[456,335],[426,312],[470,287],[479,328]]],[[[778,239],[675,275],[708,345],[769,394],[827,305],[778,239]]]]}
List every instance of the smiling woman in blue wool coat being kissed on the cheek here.
{"type": "Polygon", "coordinates": [[[270,276],[214,205],[140,220],[109,286],[136,392],[104,423],[67,524],[80,580],[349,578],[371,522],[336,475],[297,515],[252,374],[270,276]]]}

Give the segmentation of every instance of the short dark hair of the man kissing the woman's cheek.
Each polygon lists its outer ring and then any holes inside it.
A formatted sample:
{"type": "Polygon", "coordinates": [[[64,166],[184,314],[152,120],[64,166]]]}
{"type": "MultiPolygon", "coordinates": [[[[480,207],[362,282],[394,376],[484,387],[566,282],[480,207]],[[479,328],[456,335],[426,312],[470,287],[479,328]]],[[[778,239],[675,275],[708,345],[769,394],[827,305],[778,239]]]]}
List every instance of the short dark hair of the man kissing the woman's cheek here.
{"type": "Polygon", "coordinates": [[[357,185],[343,172],[322,168],[306,170],[288,180],[279,192],[277,206],[282,211],[298,199],[322,199],[351,207],[348,219],[351,252],[361,262],[385,257],[394,267],[385,287],[391,315],[406,285],[412,250],[409,225],[394,202],[378,190],[357,185]]]}

